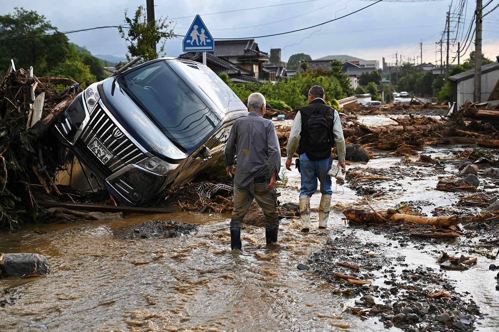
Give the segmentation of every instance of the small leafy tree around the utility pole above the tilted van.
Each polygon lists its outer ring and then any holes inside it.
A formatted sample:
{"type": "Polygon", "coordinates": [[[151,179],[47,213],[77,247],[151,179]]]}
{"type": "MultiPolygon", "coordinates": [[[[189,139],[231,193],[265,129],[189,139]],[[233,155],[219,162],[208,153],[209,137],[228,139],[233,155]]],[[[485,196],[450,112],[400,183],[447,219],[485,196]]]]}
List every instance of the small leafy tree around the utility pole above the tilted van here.
{"type": "Polygon", "coordinates": [[[140,5],[135,11],[135,15],[130,18],[127,16],[128,9],[125,9],[125,22],[128,27],[119,26],[118,31],[121,38],[128,42],[128,60],[137,56],[142,56],[144,61],[158,58],[159,55],[165,55],[166,39],[172,39],[173,29],[170,25],[173,21],[167,22],[168,16],[163,18],[159,16],[151,23],[147,22],[146,8],[140,5]],[[125,33],[125,29],[128,31],[125,33]],[[156,45],[160,42],[159,52],[156,53],[156,45]]]}

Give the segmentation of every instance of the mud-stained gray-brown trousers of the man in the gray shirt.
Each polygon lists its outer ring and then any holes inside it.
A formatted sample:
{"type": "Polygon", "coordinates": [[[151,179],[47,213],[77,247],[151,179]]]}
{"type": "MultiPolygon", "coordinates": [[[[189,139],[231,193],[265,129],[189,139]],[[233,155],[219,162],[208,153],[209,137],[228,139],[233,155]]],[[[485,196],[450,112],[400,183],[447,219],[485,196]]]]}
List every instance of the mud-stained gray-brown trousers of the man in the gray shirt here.
{"type": "Polygon", "coordinates": [[[232,210],[231,228],[241,228],[253,198],[265,215],[265,228],[279,228],[279,213],[277,212],[277,196],[275,189],[265,194],[257,194],[251,183],[243,188],[234,187],[234,209],[232,210]]]}

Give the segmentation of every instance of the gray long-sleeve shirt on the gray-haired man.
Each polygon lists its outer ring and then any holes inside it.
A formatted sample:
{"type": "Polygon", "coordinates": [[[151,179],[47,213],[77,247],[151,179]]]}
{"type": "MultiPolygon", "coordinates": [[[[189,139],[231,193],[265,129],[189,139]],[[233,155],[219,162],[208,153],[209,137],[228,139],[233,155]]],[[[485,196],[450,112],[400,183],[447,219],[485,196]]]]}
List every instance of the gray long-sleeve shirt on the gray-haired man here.
{"type": "Polygon", "coordinates": [[[250,112],[239,118],[232,127],[225,147],[226,166],[234,165],[237,156],[238,166],[234,176],[234,186],[247,186],[258,175],[264,174],[267,180],[280,170],[280,147],[275,126],[259,113],[250,112]]]}

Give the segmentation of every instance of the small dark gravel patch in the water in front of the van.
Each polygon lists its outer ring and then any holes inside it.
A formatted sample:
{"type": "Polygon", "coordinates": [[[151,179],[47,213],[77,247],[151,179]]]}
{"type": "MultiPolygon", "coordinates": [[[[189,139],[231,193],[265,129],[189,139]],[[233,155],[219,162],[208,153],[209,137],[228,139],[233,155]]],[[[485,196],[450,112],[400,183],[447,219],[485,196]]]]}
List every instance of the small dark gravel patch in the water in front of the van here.
{"type": "Polygon", "coordinates": [[[198,225],[177,221],[152,220],[125,226],[114,230],[114,235],[122,239],[172,238],[187,236],[199,230],[198,225]]]}

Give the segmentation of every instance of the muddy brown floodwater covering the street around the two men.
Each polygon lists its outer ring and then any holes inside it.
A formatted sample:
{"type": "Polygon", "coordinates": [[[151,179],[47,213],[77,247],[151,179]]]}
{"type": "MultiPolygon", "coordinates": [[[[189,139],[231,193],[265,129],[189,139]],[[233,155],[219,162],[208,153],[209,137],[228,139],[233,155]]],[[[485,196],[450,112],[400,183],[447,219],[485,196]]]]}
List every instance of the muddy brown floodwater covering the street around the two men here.
{"type": "MultiPolygon", "coordinates": [[[[370,119],[366,119],[370,120],[370,119]]],[[[375,123],[373,120],[371,123],[375,123]]],[[[462,147],[428,148],[433,157],[455,158],[462,147]]],[[[389,194],[374,198],[371,205],[387,209],[401,201],[425,200],[424,213],[436,206],[450,206],[456,193],[436,190],[439,174],[420,165],[400,165],[401,158],[379,158],[367,165],[348,167],[414,167],[426,175],[401,175],[384,181],[389,194]],[[392,190],[393,189],[393,190],[392,190]]],[[[283,163],[284,165],[284,160],[283,163]]],[[[455,173],[446,166],[443,171],[455,173]]],[[[279,188],[280,201],[297,202],[299,174],[287,172],[286,188],[279,188]]],[[[380,243],[379,253],[398,259],[402,269],[423,266],[440,271],[440,250],[457,254],[457,240],[430,241],[424,250],[409,243],[393,246],[383,233],[359,230],[341,218],[346,207],[366,208],[360,195],[348,186],[333,194],[327,230],[318,230],[317,212],[312,229],[304,234],[289,227],[295,218],[281,219],[279,243],[265,246],[265,230],[245,226],[241,253],[230,251],[230,215],[179,212],[163,215],[132,215],[121,221],[73,222],[26,225],[16,233],[0,235],[0,252],[33,252],[45,255],[51,273],[30,279],[0,280],[0,291],[15,291],[15,303],[0,307],[0,331],[382,331],[378,318],[361,320],[344,313],[355,296],[334,293],[313,269],[298,270],[327,240],[355,237],[360,243],[380,243]],[[173,238],[126,240],[117,230],[148,220],[174,220],[197,224],[199,230],[173,238]],[[34,232],[39,231],[41,234],[34,232]],[[46,231],[46,232],[45,232],[46,231]],[[31,235],[26,236],[29,233],[31,235]]],[[[492,190],[492,189],[491,189],[492,190]]],[[[317,207],[320,194],[312,196],[317,207]]],[[[465,249],[463,249],[465,250],[465,249]]],[[[475,331],[499,329],[497,272],[488,267],[494,260],[477,256],[480,264],[468,271],[445,271],[456,291],[473,299],[485,316],[475,331]]],[[[382,286],[390,278],[381,271],[372,276],[382,286]]],[[[390,331],[401,331],[392,327],[390,331]]]]}

